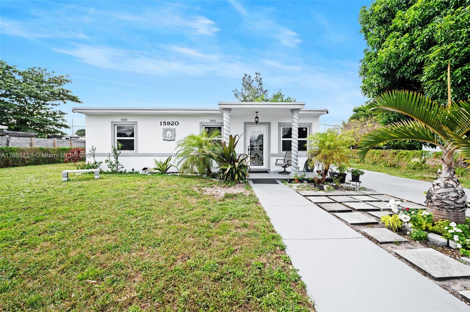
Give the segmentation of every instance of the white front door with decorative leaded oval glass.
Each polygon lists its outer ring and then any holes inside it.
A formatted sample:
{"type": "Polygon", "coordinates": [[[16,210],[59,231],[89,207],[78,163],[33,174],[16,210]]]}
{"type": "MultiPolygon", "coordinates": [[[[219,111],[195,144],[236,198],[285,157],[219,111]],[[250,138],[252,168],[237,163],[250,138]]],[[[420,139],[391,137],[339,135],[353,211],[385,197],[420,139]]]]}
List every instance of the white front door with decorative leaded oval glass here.
{"type": "Polygon", "coordinates": [[[267,168],[267,125],[247,125],[251,168],[267,168]]]}

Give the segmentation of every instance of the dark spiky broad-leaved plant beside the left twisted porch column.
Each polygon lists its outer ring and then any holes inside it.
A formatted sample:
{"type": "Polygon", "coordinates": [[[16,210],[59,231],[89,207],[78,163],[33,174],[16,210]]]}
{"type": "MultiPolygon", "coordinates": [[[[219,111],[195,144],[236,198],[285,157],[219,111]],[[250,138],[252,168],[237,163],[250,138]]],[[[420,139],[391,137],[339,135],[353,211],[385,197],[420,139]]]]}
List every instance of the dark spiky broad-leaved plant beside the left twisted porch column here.
{"type": "Polygon", "coordinates": [[[236,155],[235,147],[240,140],[240,136],[230,135],[228,143],[213,142],[212,144],[220,144],[218,151],[202,151],[196,154],[199,157],[210,159],[219,164],[219,172],[217,177],[224,182],[246,182],[250,175],[250,165],[246,161],[248,156],[244,154],[236,155]],[[237,138],[238,137],[238,138],[237,138]]]}

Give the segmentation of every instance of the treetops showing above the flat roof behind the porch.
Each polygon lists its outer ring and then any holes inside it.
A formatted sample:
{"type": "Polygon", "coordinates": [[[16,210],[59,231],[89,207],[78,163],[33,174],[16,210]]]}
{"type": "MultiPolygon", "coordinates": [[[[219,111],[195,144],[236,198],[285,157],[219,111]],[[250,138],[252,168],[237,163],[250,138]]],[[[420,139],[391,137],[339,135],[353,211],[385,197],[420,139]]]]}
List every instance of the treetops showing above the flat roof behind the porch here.
{"type": "Polygon", "coordinates": [[[242,88],[233,90],[235,98],[240,102],[295,102],[296,99],[285,97],[281,90],[274,90],[269,96],[268,89],[263,86],[263,78],[259,72],[255,72],[255,78],[245,74],[242,78],[242,88]]]}

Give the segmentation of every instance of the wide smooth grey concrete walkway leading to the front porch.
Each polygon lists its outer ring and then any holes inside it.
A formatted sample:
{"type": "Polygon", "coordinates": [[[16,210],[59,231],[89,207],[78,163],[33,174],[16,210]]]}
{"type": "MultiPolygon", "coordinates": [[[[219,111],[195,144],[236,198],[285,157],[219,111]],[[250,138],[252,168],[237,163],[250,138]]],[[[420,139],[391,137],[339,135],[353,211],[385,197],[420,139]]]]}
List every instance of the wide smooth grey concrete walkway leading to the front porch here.
{"type": "Polygon", "coordinates": [[[317,311],[470,311],[437,284],[282,184],[253,184],[317,311]]]}

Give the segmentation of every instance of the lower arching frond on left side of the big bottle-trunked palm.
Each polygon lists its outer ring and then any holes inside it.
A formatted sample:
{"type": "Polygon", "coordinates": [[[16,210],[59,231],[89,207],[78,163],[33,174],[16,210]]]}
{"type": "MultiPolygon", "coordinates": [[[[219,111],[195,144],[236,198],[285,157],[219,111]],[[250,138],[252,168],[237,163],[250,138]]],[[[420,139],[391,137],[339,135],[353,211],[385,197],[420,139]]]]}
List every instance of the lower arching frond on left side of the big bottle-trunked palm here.
{"type": "Polygon", "coordinates": [[[365,134],[358,144],[360,161],[363,162],[368,151],[377,144],[392,140],[423,141],[442,147],[438,135],[430,127],[415,120],[403,120],[365,134]]]}

